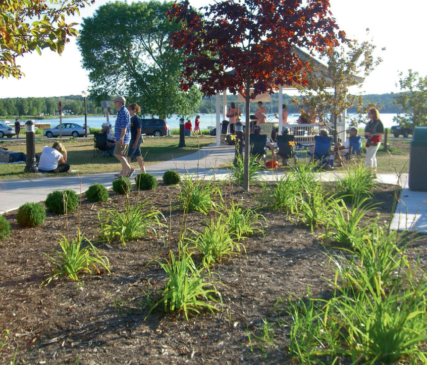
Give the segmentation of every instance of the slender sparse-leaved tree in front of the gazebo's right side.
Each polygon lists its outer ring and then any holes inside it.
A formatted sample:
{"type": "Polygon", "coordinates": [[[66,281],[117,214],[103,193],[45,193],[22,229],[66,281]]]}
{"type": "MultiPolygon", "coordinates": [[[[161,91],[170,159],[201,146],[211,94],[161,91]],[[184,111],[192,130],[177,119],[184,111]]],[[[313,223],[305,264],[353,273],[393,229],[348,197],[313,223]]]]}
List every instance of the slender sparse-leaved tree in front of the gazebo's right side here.
{"type": "MultiPolygon", "coordinates": [[[[363,108],[361,95],[350,94],[348,87],[362,87],[364,77],[369,76],[382,61],[374,57],[375,48],[369,41],[359,43],[357,40],[349,40],[340,47],[322,52],[320,60],[327,61],[327,67],[309,61],[309,83],[307,86],[297,85],[301,97],[294,98],[294,104],[309,117],[316,118],[320,125],[333,122],[335,130],[337,117],[355,102],[359,106],[358,112],[363,113],[366,108],[363,108]]],[[[336,142],[336,133],[334,138],[336,142]]]]}

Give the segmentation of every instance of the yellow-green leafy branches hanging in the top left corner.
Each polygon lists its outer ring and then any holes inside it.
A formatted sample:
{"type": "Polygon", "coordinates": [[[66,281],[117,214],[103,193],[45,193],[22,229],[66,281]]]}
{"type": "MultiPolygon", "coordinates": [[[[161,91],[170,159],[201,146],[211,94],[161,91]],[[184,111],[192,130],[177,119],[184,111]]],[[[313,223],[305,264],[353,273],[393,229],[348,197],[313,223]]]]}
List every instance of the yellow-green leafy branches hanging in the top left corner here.
{"type": "Polygon", "coordinates": [[[20,78],[24,73],[16,57],[50,48],[59,55],[70,37],[78,34],[65,15],[95,0],[7,0],[0,1],[0,76],[20,78]]]}

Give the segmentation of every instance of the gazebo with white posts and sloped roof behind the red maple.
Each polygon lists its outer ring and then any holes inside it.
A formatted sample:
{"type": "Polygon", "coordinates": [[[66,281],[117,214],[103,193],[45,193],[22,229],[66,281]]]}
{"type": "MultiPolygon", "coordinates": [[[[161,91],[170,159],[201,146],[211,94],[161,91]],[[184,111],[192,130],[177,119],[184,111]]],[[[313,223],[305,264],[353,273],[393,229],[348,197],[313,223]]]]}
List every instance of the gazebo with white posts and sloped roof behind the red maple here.
{"type": "MultiPolygon", "coordinates": [[[[332,84],[332,79],[328,76],[326,76],[328,74],[328,68],[327,66],[325,66],[323,63],[321,63],[320,61],[316,60],[315,58],[313,58],[312,56],[310,56],[309,54],[305,53],[304,51],[300,50],[297,47],[294,47],[294,53],[296,53],[298,55],[298,57],[302,60],[302,61],[309,61],[311,64],[311,68],[312,68],[312,72],[315,72],[316,74],[320,75],[321,77],[324,77],[326,82],[330,82],[332,84]]],[[[233,70],[231,70],[230,72],[233,72],[233,70]]],[[[364,78],[363,77],[358,77],[358,76],[349,76],[348,77],[348,81],[347,81],[347,86],[353,86],[353,85],[357,85],[361,82],[363,82],[364,78]]],[[[283,113],[282,113],[282,108],[281,105],[283,104],[283,89],[287,89],[287,90],[296,90],[295,87],[283,87],[283,86],[279,86],[279,98],[278,98],[278,123],[279,123],[279,131],[282,129],[283,126],[283,113]]],[[[222,92],[222,115],[225,117],[226,112],[227,112],[227,90],[223,90],[222,92]]],[[[216,94],[215,96],[215,111],[216,111],[216,130],[219,131],[221,130],[221,111],[220,111],[220,94],[216,94]]],[[[251,100],[251,103],[255,103],[258,102],[260,100],[260,96],[258,96],[257,98],[251,100]]],[[[248,113],[249,111],[245,111],[245,113],[248,113]]],[[[345,130],[345,120],[346,120],[346,111],[344,111],[340,116],[338,116],[338,123],[337,123],[337,130],[336,133],[341,133],[344,132],[345,130]]],[[[313,124],[298,124],[299,126],[313,126],[313,124]]],[[[216,145],[219,146],[220,145],[220,133],[216,133],[216,145]]]]}

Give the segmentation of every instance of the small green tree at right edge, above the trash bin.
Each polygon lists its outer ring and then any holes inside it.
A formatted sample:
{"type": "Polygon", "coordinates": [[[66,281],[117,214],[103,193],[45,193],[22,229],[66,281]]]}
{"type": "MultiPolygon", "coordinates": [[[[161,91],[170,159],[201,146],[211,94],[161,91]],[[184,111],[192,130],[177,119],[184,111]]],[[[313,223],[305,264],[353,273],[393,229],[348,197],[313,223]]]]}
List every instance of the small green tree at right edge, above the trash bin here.
{"type": "Polygon", "coordinates": [[[403,92],[394,96],[394,103],[404,114],[399,113],[393,120],[402,126],[408,126],[410,121],[413,126],[427,125],[427,76],[419,76],[412,69],[408,71],[408,76],[404,76],[403,72],[399,76],[403,92]]]}

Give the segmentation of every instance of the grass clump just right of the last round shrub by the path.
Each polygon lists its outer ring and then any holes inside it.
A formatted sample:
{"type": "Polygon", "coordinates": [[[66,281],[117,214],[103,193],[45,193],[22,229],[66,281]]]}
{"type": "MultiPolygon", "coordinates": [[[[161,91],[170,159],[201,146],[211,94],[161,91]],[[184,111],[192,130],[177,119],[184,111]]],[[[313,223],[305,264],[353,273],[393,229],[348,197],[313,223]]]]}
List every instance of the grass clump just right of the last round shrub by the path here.
{"type": "Polygon", "coordinates": [[[193,175],[184,176],[177,205],[187,211],[197,210],[208,214],[209,211],[220,209],[222,196],[214,184],[205,180],[194,180],[193,175]],[[216,200],[216,201],[215,201],[216,200]]]}

